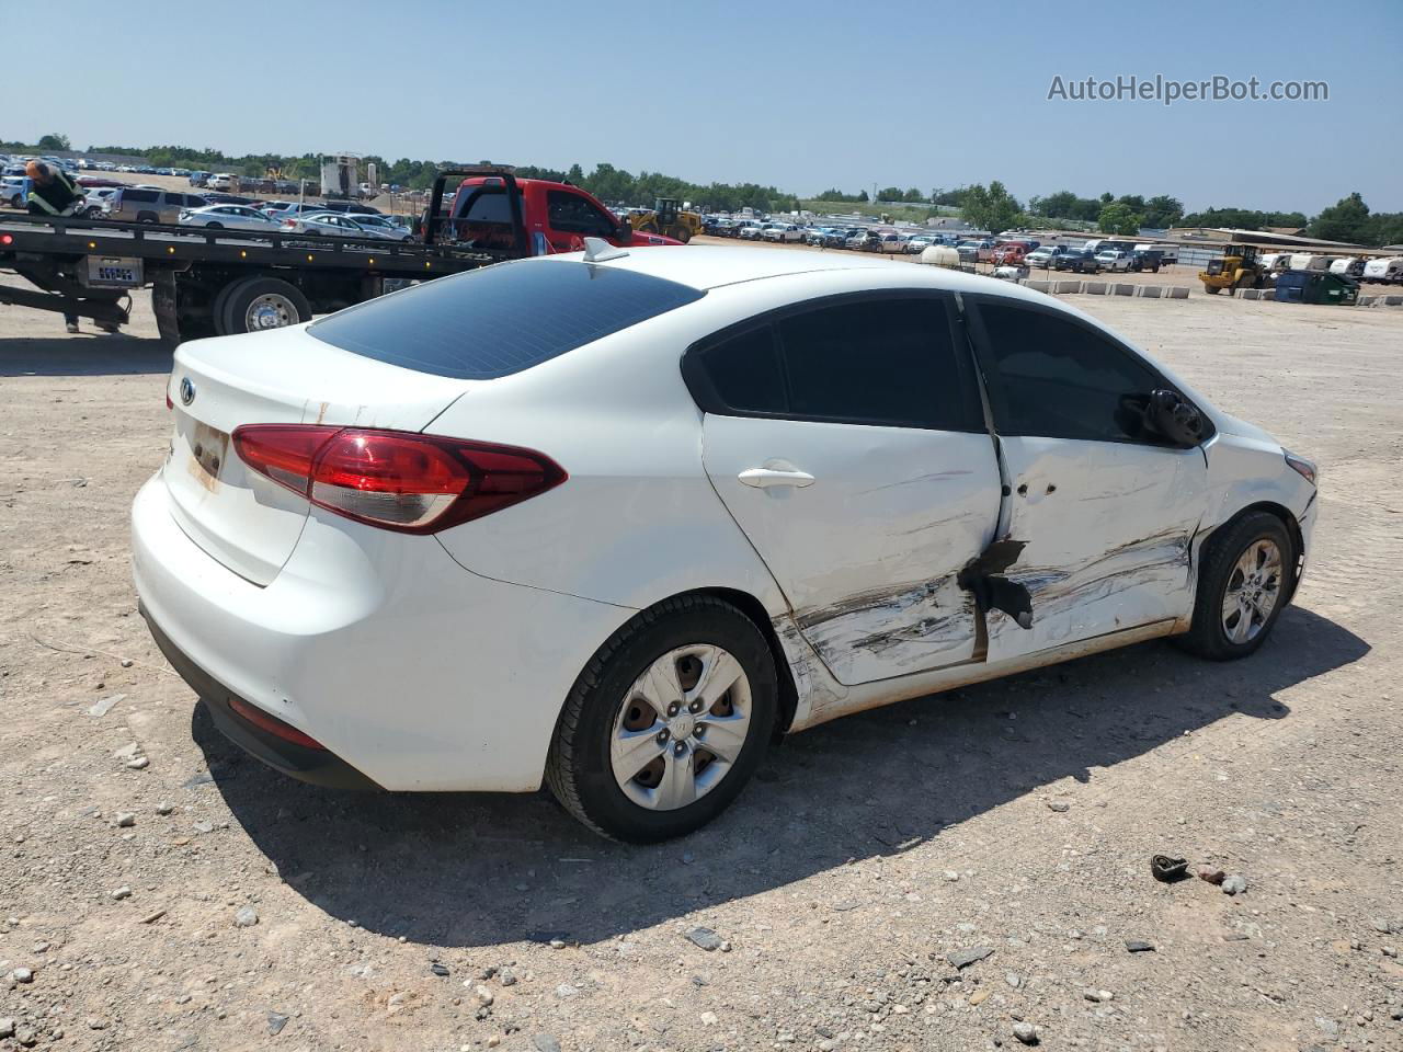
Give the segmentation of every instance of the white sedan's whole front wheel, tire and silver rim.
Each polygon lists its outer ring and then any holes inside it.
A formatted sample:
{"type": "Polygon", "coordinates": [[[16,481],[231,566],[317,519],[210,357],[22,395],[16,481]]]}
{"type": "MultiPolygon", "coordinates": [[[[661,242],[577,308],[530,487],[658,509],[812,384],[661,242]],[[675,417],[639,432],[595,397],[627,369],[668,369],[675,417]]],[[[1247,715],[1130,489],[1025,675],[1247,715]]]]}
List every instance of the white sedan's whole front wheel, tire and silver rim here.
{"type": "Polygon", "coordinates": [[[1246,658],[1267,638],[1295,589],[1296,550],[1270,512],[1249,512],[1209,539],[1194,624],[1181,645],[1212,661],[1246,658]]]}

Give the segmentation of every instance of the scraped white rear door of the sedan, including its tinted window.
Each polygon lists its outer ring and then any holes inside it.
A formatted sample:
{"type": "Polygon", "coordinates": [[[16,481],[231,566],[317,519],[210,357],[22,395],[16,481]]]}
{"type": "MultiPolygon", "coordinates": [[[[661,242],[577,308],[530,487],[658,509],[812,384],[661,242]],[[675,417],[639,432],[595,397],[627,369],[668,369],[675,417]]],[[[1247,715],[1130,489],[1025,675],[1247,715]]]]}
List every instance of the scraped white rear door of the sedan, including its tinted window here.
{"type": "Polygon", "coordinates": [[[999,466],[953,345],[943,297],[888,295],[700,352],[707,474],[845,685],[975,656],[955,578],[993,536],[999,466]]]}

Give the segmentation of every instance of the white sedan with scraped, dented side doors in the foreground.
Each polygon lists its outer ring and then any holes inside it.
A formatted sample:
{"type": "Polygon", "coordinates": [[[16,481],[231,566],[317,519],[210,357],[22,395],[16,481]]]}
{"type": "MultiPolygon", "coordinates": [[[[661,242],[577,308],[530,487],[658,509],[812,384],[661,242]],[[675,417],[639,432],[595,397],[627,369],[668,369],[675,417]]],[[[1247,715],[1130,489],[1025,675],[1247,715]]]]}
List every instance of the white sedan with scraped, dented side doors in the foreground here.
{"type": "Polygon", "coordinates": [[[177,349],[136,589],[258,759],[661,840],[779,734],[1156,637],[1244,658],[1295,592],[1315,467],[1048,296],[586,245],[177,349]]]}

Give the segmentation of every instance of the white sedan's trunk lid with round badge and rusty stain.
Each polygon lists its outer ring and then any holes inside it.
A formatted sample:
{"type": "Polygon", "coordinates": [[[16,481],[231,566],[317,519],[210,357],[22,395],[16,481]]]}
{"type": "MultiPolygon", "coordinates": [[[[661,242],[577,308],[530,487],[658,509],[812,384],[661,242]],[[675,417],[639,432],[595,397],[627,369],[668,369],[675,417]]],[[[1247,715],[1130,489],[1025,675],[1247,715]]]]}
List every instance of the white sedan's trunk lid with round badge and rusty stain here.
{"type": "Polygon", "coordinates": [[[310,505],[239,459],[230,442],[234,428],[422,431],[474,386],[341,351],[303,330],[182,344],[167,387],[174,421],[163,478],[171,513],[195,544],[257,585],[282,569],[310,505]]]}

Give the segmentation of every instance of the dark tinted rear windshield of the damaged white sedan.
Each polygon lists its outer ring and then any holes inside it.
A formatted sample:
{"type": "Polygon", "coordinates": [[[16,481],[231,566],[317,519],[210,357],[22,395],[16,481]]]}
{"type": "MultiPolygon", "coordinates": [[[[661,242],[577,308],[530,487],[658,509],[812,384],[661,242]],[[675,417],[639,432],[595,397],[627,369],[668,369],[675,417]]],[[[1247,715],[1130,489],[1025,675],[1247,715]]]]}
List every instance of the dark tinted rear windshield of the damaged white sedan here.
{"type": "Polygon", "coordinates": [[[369,300],[307,331],[342,351],[492,380],[702,299],[699,289],[584,262],[505,262],[369,300]]]}

